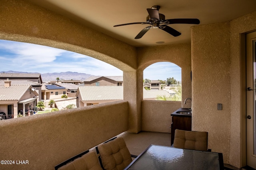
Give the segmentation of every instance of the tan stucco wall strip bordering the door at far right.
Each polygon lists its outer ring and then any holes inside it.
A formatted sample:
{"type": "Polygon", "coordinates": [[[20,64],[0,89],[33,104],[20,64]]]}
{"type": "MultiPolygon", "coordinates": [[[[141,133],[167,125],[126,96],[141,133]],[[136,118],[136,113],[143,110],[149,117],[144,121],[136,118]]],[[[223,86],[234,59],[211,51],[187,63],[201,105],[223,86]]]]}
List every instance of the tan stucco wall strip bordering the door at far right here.
{"type": "Polygon", "coordinates": [[[256,12],[230,21],[230,82],[232,89],[230,93],[230,162],[238,168],[241,158],[241,166],[246,165],[246,110],[244,109],[246,103],[241,98],[246,95],[245,68],[241,67],[245,62],[245,54],[242,49],[244,40],[241,33],[252,30],[256,31],[256,12]]]}

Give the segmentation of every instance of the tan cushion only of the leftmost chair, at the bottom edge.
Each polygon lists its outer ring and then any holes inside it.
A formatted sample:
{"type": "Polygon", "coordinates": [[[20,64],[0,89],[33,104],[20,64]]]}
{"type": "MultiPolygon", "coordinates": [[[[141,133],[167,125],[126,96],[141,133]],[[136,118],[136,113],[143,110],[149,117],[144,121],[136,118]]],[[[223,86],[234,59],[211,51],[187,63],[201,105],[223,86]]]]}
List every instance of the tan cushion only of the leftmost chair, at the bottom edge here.
{"type": "Polygon", "coordinates": [[[82,157],[58,168],[58,170],[102,170],[98,157],[91,151],[82,157]]]}

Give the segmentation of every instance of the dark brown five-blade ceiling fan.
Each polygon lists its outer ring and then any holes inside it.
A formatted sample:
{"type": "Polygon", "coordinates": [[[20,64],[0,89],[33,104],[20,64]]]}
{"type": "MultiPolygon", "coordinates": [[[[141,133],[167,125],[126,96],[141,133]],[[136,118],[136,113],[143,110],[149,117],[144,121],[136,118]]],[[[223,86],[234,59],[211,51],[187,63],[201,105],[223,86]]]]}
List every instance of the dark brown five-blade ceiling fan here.
{"type": "Polygon", "coordinates": [[[146,22],[133,22],[133,23],[124,23],[120,25],[114,25],[114,27],[119,27],[123,25],[132,25],[132,24],[150,24],[152,26],[148,26],[144,29],[142,29],[138,35],[135,37],[135,39],[140,39],[148,30],[151,28],[160,28],[167,33],[173,35],[174,37],[177,37],[181,35],[181,33],[172,27],[169,27],[168,24],[174,24],[174,23],[187,23],[187,24],[199,24],[200,21],[196,18],[176,18],[176,19],[169,19],[165,20],[164,14],[159,14],[158,10],[160,9],[160,6],[155,5],[151,8],[147,8],[148,16],[146,18],[146,22]]]}

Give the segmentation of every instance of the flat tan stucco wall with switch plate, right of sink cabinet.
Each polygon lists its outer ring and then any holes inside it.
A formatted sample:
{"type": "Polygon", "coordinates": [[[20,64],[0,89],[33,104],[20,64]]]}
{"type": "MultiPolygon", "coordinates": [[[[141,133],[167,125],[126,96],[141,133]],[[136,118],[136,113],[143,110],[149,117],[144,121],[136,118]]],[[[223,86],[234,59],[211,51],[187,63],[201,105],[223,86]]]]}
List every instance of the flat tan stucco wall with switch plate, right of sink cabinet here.
{"type": "Polygon", "coordinates": [[[230,25],[192,28],[192,130],[208,132],[208,148],[229,161],[230,25]],[[222,110],[217,110],[222,104],[222,110]]]}

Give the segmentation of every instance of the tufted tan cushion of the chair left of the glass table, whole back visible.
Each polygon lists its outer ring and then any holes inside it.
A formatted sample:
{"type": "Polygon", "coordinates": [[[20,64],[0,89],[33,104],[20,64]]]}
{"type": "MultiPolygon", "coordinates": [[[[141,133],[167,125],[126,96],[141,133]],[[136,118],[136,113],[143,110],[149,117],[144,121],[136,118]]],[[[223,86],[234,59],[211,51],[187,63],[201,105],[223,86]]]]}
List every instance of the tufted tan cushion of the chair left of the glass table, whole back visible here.
{"type": "Polygon", "coordinates": [[[123,170],[132,162],[131,154],[122,137],[98,145],[98,150],[106,170],[123,170]]]}

